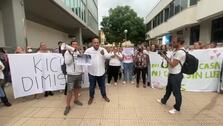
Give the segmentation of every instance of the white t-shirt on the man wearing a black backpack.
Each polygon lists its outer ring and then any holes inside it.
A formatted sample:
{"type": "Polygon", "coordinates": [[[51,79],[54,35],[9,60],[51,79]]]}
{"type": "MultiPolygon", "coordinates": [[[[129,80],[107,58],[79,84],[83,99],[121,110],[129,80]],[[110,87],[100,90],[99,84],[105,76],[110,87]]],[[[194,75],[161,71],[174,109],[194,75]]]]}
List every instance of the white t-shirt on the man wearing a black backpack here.
{"type": "MultiPolygon", "coordinates": [[[[184,48],[181,48],[184,49],[184,48]]],[[[186,53],[183,50],[174,51],[171,56],[171,61],[174,59],[179,60],[180,63],[183,65],[186,60],[186,53]]],[[[169,65],[169,73],[170,74],[179,74],[181,72],[182,66],[178,63],[175,67],[171,67],[169,65]]]]}

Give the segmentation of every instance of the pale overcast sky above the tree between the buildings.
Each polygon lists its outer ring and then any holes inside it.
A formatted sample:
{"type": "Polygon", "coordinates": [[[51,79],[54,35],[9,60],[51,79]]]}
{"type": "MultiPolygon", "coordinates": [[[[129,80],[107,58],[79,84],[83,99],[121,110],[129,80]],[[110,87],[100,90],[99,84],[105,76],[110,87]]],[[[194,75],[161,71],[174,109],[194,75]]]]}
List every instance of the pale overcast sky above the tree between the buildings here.
{"type": "Polygon", "coordinates": [[[103,16],[108,16],[108,10],[116,6],[129,5],[139,17],[145,18],[159,0],[98,0],[99,27],[103,16]]]}

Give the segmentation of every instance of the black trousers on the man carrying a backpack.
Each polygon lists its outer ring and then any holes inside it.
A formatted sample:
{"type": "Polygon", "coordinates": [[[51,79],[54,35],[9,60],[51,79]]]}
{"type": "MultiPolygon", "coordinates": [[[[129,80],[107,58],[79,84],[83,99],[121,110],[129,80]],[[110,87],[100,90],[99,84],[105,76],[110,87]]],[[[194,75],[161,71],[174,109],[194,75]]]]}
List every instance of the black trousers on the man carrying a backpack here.
{"type": "Polygon", "coordinates": [[[176,104],[173,106],[176,110],[180,111],[180,107],[182,104],[182,96],[181,96],[181,82],[183,79],[183,74],[169,74],[168,82],[166,86],[166,93],[161,99],[163,104],[166,104],[167,100],[169,99],[171,93],[175,97],[176,104]]]}

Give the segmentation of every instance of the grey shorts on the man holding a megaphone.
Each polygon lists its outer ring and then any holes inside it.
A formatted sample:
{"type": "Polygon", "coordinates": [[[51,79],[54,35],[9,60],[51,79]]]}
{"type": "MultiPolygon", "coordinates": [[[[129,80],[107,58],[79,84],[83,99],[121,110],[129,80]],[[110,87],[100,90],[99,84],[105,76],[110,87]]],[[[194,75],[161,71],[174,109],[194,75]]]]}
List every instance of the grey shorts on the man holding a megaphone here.
{"type": "Polygon", "coordinates": [[[67,90],[81,88],[82,75],[67,75],[67,90]]]}

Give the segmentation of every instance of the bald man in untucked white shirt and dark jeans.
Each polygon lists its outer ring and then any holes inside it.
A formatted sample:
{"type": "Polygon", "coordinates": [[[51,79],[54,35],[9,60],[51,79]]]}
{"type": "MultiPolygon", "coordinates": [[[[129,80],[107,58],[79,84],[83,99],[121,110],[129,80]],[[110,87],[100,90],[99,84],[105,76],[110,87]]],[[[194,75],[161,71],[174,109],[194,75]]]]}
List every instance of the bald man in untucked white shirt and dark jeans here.
{"type": "Polygon", "coordinates": [[[110,99],[106,95],[105,87],[105,59],[109,59],[111,55],[108,54],[106,49],[99,47],[98,37],[92,38],[92,47],[85,51],[85,54],[91,55],[91,65],[88,67],[89,76],[89,101],[88,105],[92,104],[95,93],[96,81],[100,88],[102,97],[106,102],[110,102],[110,99]]]}

